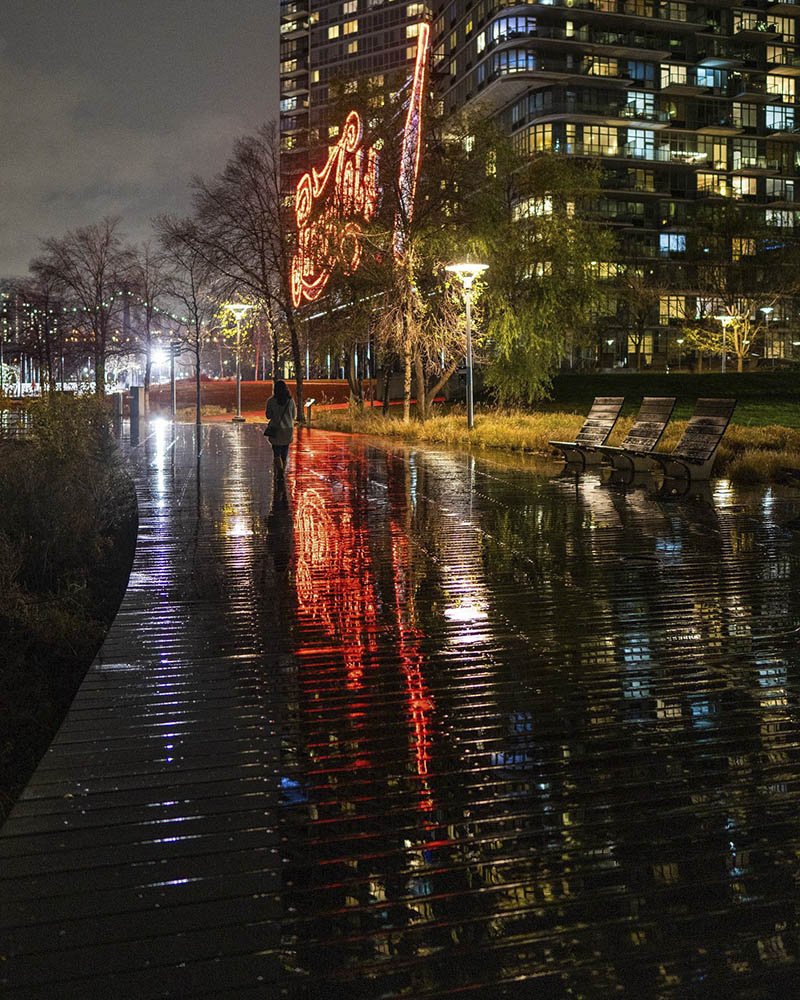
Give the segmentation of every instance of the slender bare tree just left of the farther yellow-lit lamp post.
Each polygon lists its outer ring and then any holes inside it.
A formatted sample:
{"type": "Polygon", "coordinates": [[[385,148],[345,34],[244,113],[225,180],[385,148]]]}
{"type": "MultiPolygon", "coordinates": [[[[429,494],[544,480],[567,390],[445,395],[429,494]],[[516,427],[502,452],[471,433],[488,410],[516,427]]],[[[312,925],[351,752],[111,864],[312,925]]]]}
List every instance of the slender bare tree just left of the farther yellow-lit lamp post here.
{"type": "Polygon", "coordinates": [[[196,223],[191,219],[163,216],[156,229],[167,265],[169,295],[180,302],[186,313],[183,338],[191,351],[195,368],[196,422],[202,422],[202,380],[200,363],[206,338],[214,328],[219,302],[216,272],[200,249],[196,223]]]}

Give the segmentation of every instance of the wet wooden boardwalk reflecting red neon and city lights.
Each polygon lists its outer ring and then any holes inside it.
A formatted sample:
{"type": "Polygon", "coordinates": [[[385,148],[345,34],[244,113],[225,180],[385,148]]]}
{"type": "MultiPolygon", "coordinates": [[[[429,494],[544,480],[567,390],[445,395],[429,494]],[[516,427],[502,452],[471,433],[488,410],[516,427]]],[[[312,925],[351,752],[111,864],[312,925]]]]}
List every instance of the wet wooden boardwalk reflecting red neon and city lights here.
{"type": "Polygon", "coordinates": [[[193,433],[0,835],[0,994],[798,994],[797,491],[311,432],[282,495],[193,433]]]}

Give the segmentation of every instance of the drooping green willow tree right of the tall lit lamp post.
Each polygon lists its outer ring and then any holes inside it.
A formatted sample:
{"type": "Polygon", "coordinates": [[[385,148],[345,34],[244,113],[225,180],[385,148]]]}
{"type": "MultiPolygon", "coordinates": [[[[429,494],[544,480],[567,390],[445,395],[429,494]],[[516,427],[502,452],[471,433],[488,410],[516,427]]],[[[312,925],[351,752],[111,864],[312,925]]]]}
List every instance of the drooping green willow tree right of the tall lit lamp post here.
{"type": "Polygon", "coordinates": [[[486,380],[501,402],[531,403],[603,300],[598,264],[612,259],[613,240],[589,218],[598,177],[552,154],[523,157],[494,130],[475,138],[471,155],[461,214],[489,265],[478,303],[486,380]]]}

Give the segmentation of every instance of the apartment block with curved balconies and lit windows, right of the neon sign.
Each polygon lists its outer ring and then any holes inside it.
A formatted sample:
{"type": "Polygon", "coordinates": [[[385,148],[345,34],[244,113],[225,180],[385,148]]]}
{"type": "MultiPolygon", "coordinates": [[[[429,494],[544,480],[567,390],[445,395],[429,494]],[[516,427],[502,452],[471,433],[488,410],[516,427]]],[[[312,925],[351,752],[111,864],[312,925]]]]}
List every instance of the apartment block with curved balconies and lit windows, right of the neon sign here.
{"type": "MultiPolygon", "coordinates": [[[[524,152],[602,165],[594,216],[627,264],[670,289],[654,297],[650,359],[669,360],[670,347],[676,357],[675,327],[694,308],[679,269],[698,203],[746,205],[756,229],[776,234],[798,221],[798,18],[800,5],[767,0],[447,0],[437,10],[446,112],[483,107],[524,152]]],[[[791,352],[789,309],[775,305],[768,357],[791,352]]],[[[625,340],[610,338],[606,353],[624,358],[625,340]]]]}

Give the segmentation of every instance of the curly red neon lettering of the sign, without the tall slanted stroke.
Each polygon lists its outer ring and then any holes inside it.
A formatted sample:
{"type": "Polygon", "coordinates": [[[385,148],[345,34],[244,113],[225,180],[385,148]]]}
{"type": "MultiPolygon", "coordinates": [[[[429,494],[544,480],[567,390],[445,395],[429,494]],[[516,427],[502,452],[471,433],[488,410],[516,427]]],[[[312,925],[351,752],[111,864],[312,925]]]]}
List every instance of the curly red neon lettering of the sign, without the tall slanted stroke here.
{"type": "Polygon", "coordinates": [[[341,264],[352,274],[361,261],[360,222],[369,222],[380,201],[378,151],[361,146],[358,112],[347,116],[339,141],[322,171],[312,167],[297,184],[297,252],[292,258],[292,302],[313,302],[341,264]],[[322,210],[314,214],[316,205],[322,210]]]}

